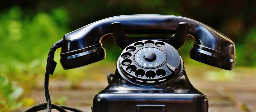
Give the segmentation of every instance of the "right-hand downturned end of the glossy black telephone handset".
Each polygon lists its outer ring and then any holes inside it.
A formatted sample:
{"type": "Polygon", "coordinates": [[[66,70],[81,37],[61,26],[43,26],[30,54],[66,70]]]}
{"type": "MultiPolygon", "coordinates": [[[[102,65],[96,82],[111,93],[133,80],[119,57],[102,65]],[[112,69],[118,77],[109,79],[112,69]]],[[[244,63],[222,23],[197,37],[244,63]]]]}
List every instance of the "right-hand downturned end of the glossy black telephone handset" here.
{"type": "Polygon", "coordinates": [[[194,29],[195,43],[189,57],[214,67],[232,70],[236,64],[235,44],[227,36],[207,27],[198,26],[194,29]]]}

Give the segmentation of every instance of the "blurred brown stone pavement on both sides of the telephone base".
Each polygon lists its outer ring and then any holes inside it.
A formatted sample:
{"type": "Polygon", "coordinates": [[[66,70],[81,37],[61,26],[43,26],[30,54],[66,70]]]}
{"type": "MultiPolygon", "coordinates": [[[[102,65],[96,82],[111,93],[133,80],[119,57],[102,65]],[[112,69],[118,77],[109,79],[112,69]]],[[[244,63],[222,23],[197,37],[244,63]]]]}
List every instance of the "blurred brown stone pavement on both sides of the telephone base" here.
{"type": "MultiPolygon", "coordinates": [[[[191,72],[189,69],[187,73],[191,72]]],[[[211,81],[202,75],[188,75],[188,78],[197,90],[208,97],[210,112],[256,112],[255,74],[233,77],[234,79],[226,81],[211,81]]],[[[33,90],[30,96],[35,99],[36,104],[46,102],[43,82],[38,84],[38,88],[33,90]]],[[[70,82],[67,80],[51,80],[49,85],[53,103],[55,98],[66,96],[67,106],[90,111],[94,95],[104,89],[108,83],[107,79],[84,81],[79,89],[70,89],[70,82]]],[[[26,108],[20,108],[18,111],[24,109],[26,108]]],[[[57,111],[53,109],[52,112],[57,111]]]]}

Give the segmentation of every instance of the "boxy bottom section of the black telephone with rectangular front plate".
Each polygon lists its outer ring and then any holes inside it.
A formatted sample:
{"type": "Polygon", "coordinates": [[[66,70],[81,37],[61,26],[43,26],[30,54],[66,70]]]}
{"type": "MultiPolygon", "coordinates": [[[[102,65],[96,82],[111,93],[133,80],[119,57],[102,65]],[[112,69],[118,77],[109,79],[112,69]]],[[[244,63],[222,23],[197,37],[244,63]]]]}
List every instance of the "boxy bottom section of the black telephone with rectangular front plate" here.
{"type": "Polygon", "coordinates": [[[92,112],[208,112],[208,100],[195,93],[99,93],[92,112]]]}

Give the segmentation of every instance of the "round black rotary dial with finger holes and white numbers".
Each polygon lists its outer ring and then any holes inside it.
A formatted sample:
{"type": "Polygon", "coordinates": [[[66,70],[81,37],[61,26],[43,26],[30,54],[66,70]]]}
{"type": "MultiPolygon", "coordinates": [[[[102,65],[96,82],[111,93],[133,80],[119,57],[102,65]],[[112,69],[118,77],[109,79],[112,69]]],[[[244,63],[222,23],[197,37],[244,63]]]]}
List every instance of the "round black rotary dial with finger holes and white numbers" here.
{"type": "Polygon", "coordinates": [[[178,51],[158,40],[142,40],[127,46],[120,55],[120,65],[125,76],[143,84],[159,84],[177,75],[180,69],[178,51]],[[148,52],[156,53],[155,60],[146,60],[148,52]],[[170,69],[172,66],[174,69],[170,69]]]}

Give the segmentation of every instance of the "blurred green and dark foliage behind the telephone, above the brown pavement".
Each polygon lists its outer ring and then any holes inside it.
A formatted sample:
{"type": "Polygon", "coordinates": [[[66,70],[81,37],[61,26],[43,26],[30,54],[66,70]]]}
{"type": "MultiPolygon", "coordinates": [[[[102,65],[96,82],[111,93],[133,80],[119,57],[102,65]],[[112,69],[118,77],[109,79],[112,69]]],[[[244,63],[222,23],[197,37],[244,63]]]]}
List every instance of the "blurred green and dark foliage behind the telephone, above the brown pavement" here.
{"type": "MultiPolygon", "coordinates": [[[[0,4],[0,111],[13,110],[20,107],[21,102],[24,105],[34,103],[30,98],[20,102],[19,97],[23,90],[24,94],[29,94],[29,90],[36,87],[35,80],[42,80],[47,54],[54,42],[70,31],[117,15],[166,14],[198,20],[235,42],[236,66],[256,67],[255,3],[238,0],[4,1],[0,4]]],[[[106,72],[114,72],[122,50],[115,44],[112,35],[104,37],[102,41],[107,59],[83,68],[63,70],[58,62],[58,49],[55,52],[58,64],[53,77],[70,80],[72,88],[79,88],[85,79],[105,79],[97,68],[104,67],[109,70],[106,72]]],[[[186,64],[205,66],[189,59],[189,49],[193,43],[191,37],[186,40],[179,50],[181,57],[186,64]]],[[[229,74],[229,71],[209,71],[205,77],[209,80],[228,80],[229,74]]],[[[55,102],[64,104],[66,98],[55,99],[55,102]]]]}

